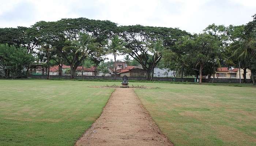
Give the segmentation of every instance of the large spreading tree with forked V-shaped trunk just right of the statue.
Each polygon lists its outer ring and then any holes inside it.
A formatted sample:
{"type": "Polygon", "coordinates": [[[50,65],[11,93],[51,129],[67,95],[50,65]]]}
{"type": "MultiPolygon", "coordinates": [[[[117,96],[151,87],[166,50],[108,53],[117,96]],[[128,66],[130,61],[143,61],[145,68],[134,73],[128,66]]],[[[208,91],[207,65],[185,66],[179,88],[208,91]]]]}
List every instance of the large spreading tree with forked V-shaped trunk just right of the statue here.
{"type": "Polygon", "coordinates": [[[163,46],[172,49],[175,42],[182,36],[188,35],[187,32],[177,28],[149,27],[149,26],[122,26],[119,28],[120,35],[126,42],[128,48],[125,53],[138,61],[146,71],[147,80],[150,80],[150,73],[153,66],[157,65],[160,59],[153,59],[152,52],[147,47],[150,41],[157,39],[163,41],[163,46]]]}

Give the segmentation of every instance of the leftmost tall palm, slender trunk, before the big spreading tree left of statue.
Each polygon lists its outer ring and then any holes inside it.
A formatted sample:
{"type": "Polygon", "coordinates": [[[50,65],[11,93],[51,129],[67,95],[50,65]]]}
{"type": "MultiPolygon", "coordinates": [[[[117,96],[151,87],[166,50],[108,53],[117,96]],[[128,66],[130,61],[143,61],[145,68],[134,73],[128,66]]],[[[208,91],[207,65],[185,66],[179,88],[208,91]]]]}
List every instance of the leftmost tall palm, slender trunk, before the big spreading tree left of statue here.
{"type": "Polygon", "coordinates": [[[84,58],[88,56],[88,50],[93,47],[93,42],[95,39],[91,37],[90,34],[87,33],[79,33],[79,39],[71,41],[72,46],[65,46],[63,47],[63,50],[65,49],[75,49],[75,54],[81,53],[82,57],[82,76],[83,78],[83,70],[84,70],[84,58]]]}

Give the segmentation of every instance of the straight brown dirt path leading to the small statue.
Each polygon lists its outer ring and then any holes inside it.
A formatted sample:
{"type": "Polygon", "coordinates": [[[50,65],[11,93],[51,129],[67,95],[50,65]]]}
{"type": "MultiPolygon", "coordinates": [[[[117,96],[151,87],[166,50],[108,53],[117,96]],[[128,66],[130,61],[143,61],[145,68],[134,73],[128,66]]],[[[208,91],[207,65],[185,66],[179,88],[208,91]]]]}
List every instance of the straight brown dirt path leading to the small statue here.
{"type": "Polygon", "coordinates": [[[133,89],[117,88],[75,146],[172,146],[133,89]]]}

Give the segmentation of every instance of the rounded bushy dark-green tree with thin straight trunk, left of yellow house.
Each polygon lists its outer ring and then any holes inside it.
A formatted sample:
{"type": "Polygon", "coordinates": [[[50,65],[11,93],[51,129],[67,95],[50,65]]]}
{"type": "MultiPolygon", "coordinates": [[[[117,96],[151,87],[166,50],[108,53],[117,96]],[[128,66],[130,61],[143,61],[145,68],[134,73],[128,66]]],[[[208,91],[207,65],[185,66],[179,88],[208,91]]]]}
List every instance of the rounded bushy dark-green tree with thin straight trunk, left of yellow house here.
{"type": "Polygon", "coordinates": [[[199,84],[202,84],[203,69],[204,74],[212,74],[213,70],[208,70],[210,64],[218,57],[219,43],[212,35],[203,33],[194,37],[186,37],[178,42],[178,48],[185,50],[186,58],[190,59],[190,68],[199,67],[199,84]],[[205,68],[207,66],[207,68],[205,68]]]}

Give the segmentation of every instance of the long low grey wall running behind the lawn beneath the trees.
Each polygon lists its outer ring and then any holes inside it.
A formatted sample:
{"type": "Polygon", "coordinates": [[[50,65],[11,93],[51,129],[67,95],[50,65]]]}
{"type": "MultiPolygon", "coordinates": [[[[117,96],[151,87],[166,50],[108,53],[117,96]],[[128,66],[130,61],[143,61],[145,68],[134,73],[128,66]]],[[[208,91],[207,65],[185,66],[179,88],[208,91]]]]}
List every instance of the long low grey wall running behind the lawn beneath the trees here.
{"type": "MultiPolygon", "coordinates": [[[[28,76],[31,78],[42,78],[46,79],[47,76],[28,76]]],[[[50,76],[50,79],[55,79],[55,78],[62,78],[62,79],[69,79],[70,76],[50,76]]],[[[81,76],[75,76],[75,79],[81,79],[81,76]]],[[[83,79],[99,79],[99,80],[114,80],[114,77],[104,77],[104,76],[83,76],[83,79]]],[[[129,80],[147,80],[146,77],[128,77],[129,80]]],[[[122,80],[122,77],[116,77],[116,80],[122,80]]],[[[170,77],[153,77],[154,81],[174,81],[174,78],[170,77]]],[[[181,82],[181,78],[175,78],[176,82],[181,82]]],[[[184,82],[194,82],[195,78],[183,78],[184,82]]],[[[203,82],[212,82],[212,78],[203,78],[203,82]]],[[[241,79],[243,82],[244,80],[241,79]]],[[[214,82],[227,82],[227,83],[239,83],[239,79],[234,79],[234,78],[214,78],[214,82]]],[[[251,79],[246,79],[246,82],[251,82],[251,79]]]]}

